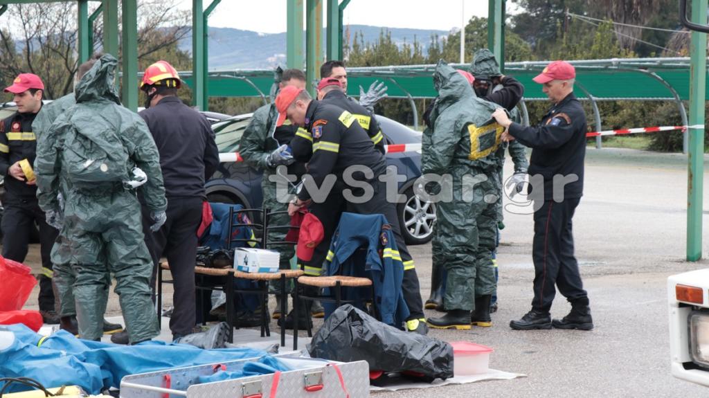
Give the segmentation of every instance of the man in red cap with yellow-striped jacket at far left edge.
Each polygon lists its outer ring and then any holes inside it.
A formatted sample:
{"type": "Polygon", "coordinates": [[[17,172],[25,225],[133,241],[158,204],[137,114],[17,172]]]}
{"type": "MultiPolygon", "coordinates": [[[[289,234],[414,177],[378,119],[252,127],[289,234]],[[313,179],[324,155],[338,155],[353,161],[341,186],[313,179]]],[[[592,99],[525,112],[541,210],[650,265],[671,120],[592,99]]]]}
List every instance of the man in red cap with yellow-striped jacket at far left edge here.
{"type": "Polygon", "coordinates": [[[45,323],[58,324],[50,251],[59,232],[47,224],[45,213],[39,207],[37,186],[31,171],[37,156],[32,123],[42,108],[44,84],[36,74],[23,73],[4,92],[13,94],[17,112],[0,120],[0,171],[5,178],[2,255],[14,261],[25,261],[33,224],[39,225],[42,252],[40,313],[45,323]]]}

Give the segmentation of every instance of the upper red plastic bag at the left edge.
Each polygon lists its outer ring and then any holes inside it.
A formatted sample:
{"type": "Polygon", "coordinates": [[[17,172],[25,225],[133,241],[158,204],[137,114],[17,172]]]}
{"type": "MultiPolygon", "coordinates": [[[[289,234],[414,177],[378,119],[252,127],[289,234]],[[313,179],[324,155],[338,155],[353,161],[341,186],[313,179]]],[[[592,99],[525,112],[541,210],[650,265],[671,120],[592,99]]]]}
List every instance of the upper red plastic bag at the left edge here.
{"type": "Polygon", "coordinates": [[[32,269],[0,256],[0,311],[22,309],[37,279],[32,269]]]}

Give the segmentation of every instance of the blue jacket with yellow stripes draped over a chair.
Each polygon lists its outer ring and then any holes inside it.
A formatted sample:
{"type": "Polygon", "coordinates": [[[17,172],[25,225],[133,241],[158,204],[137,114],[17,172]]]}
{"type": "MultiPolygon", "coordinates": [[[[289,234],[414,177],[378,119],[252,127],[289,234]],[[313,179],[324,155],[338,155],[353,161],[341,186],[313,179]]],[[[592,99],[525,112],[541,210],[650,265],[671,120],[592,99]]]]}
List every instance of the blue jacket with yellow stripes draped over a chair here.
{"type": "MultiPolygon", "coordinates": [[[[401,290],[403,263],[384,215],[343,212],[323,269],[325,275],[372,279],[381,322],[400,327],[408,317],[401,290]]],[[[349,288],[343,290],[342,300],[362,299],[362,304],[370,297],[369,291],[370,288],[349,288]]]]}

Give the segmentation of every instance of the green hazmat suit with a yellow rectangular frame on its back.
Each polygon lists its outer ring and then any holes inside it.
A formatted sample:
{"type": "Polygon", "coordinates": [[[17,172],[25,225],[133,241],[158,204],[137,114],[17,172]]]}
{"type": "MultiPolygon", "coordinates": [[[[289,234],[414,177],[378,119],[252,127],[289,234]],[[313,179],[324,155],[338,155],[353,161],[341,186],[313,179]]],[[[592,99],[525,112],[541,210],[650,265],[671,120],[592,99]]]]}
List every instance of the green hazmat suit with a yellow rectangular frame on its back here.
{"type": "Polygon", "coordinates": [[[433,261],[447,271],[446,309],[474,309],[475,297],[495,288],[491,249],[496,234],[496,193],[499,191],[494,154],[503,128],[491,113],[496,105],[475,96],[463,76],[439,62],[433,76],[439,93],[423,133],[421,169],[424,174],[450,174],[441,194],[452,200],[436,203],[433,261]]]}

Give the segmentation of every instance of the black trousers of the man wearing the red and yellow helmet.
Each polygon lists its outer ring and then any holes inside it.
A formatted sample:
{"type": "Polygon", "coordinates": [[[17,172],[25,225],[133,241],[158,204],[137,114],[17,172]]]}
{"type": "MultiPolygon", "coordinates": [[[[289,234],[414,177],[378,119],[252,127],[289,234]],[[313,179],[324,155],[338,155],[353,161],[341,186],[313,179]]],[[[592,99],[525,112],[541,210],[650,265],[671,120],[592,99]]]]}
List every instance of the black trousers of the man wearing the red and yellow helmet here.
{"type": "Polygon", "coordinates": [[[202,198],[167,198],[167,221],[150,232],[150,210],[143,206],[145,244],[155,263],[152,286],[155,286],[157,263],[167,257],[174,280],[170,330],[174,336],[191,334],[196,324],[194,266],[197,256],[197,228],[202,220],[202,198]]]}

